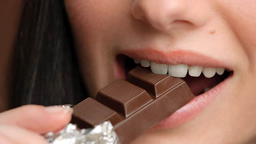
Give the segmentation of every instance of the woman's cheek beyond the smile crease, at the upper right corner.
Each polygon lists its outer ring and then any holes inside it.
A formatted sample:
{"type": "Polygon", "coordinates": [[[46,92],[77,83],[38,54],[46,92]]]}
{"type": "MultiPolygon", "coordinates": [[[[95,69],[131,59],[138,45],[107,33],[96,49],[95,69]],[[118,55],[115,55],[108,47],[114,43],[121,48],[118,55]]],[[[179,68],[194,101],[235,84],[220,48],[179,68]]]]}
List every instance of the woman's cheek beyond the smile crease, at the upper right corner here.
{"type": "Polygon", "coordinates": [[[231,26],[246,52],[251,70],[256,65],[256,1],[219,0],[219,12],[231,26]]]}

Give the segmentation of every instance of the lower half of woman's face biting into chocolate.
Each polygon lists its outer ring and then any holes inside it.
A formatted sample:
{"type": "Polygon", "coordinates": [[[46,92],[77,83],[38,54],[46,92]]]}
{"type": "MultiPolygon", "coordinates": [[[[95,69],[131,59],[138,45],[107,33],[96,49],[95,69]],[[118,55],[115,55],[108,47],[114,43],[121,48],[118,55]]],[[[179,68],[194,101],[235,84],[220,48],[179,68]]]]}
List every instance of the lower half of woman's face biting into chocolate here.
{"type": "Polygon", "coordinates": [[[91,97],[114,79],[126,77],[126,56],[151,65],[155,73],[169,71],[171,76],[184,77],[189,71],[185,81],[200,95],[133,144],[252,142],[256,135],[254,0],[65,3],[91,97]],[[228,78],[218,76],[223,68],[231,71],[226,72],[228,78]],[[223,81],[202,92],[219,80],[223,81]]]}

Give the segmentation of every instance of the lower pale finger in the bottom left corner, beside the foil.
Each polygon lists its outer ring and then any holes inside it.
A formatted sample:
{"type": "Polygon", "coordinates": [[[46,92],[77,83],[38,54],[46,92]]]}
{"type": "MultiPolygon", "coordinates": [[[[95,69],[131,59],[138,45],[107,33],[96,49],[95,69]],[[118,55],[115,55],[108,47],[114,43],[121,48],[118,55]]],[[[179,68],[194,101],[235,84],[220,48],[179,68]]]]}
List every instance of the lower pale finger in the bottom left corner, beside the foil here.
{"type": "Polygon", "coordinates": [[[14,144],[47,144],[43,136],[18,126],[0,125],[0,135],[12,140],[14,144]]]}

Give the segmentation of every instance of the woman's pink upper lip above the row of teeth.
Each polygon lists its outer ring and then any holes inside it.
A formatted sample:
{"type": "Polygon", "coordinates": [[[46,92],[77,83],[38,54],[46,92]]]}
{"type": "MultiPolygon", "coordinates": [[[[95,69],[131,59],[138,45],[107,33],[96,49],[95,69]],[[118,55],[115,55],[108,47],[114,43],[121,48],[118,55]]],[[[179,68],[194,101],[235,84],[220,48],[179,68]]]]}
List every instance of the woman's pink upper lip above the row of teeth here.
{"type": "Polygon", "coordinates": [[[227,68],[232,70],[229,64],[194,51],[175,50],[160,51],[157,49],[126,49],[123,52],[126,56],[138,60],[149,60],[158,64],[188,64],[212,68],[227,68]]]}

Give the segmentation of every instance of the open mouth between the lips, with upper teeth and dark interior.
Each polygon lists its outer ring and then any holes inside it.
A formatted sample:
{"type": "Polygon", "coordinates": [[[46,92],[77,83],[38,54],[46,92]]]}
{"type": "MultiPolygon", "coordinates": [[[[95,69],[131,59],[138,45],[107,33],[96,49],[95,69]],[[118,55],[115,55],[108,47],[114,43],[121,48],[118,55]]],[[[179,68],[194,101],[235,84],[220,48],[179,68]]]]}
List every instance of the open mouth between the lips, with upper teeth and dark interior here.
{"type": "Polygon", "coordinates": [[[214,88],[214,86],[233,74],[233,72],[227,68],[210,68],[197,65],[189,66],[187,64],[157,64],[156,62],[150,62],[148,60],[134,60],[124,54],[119,54],[116,57],[116,62],[119,67],[119,73],[122,73],[119,75],[122,75],[124,79],[132,68],[140,64],[143,67],[150,67],[152,72],[156,74],[169,74],[170,76],[182,78],[195,96],[214,88]]]}

